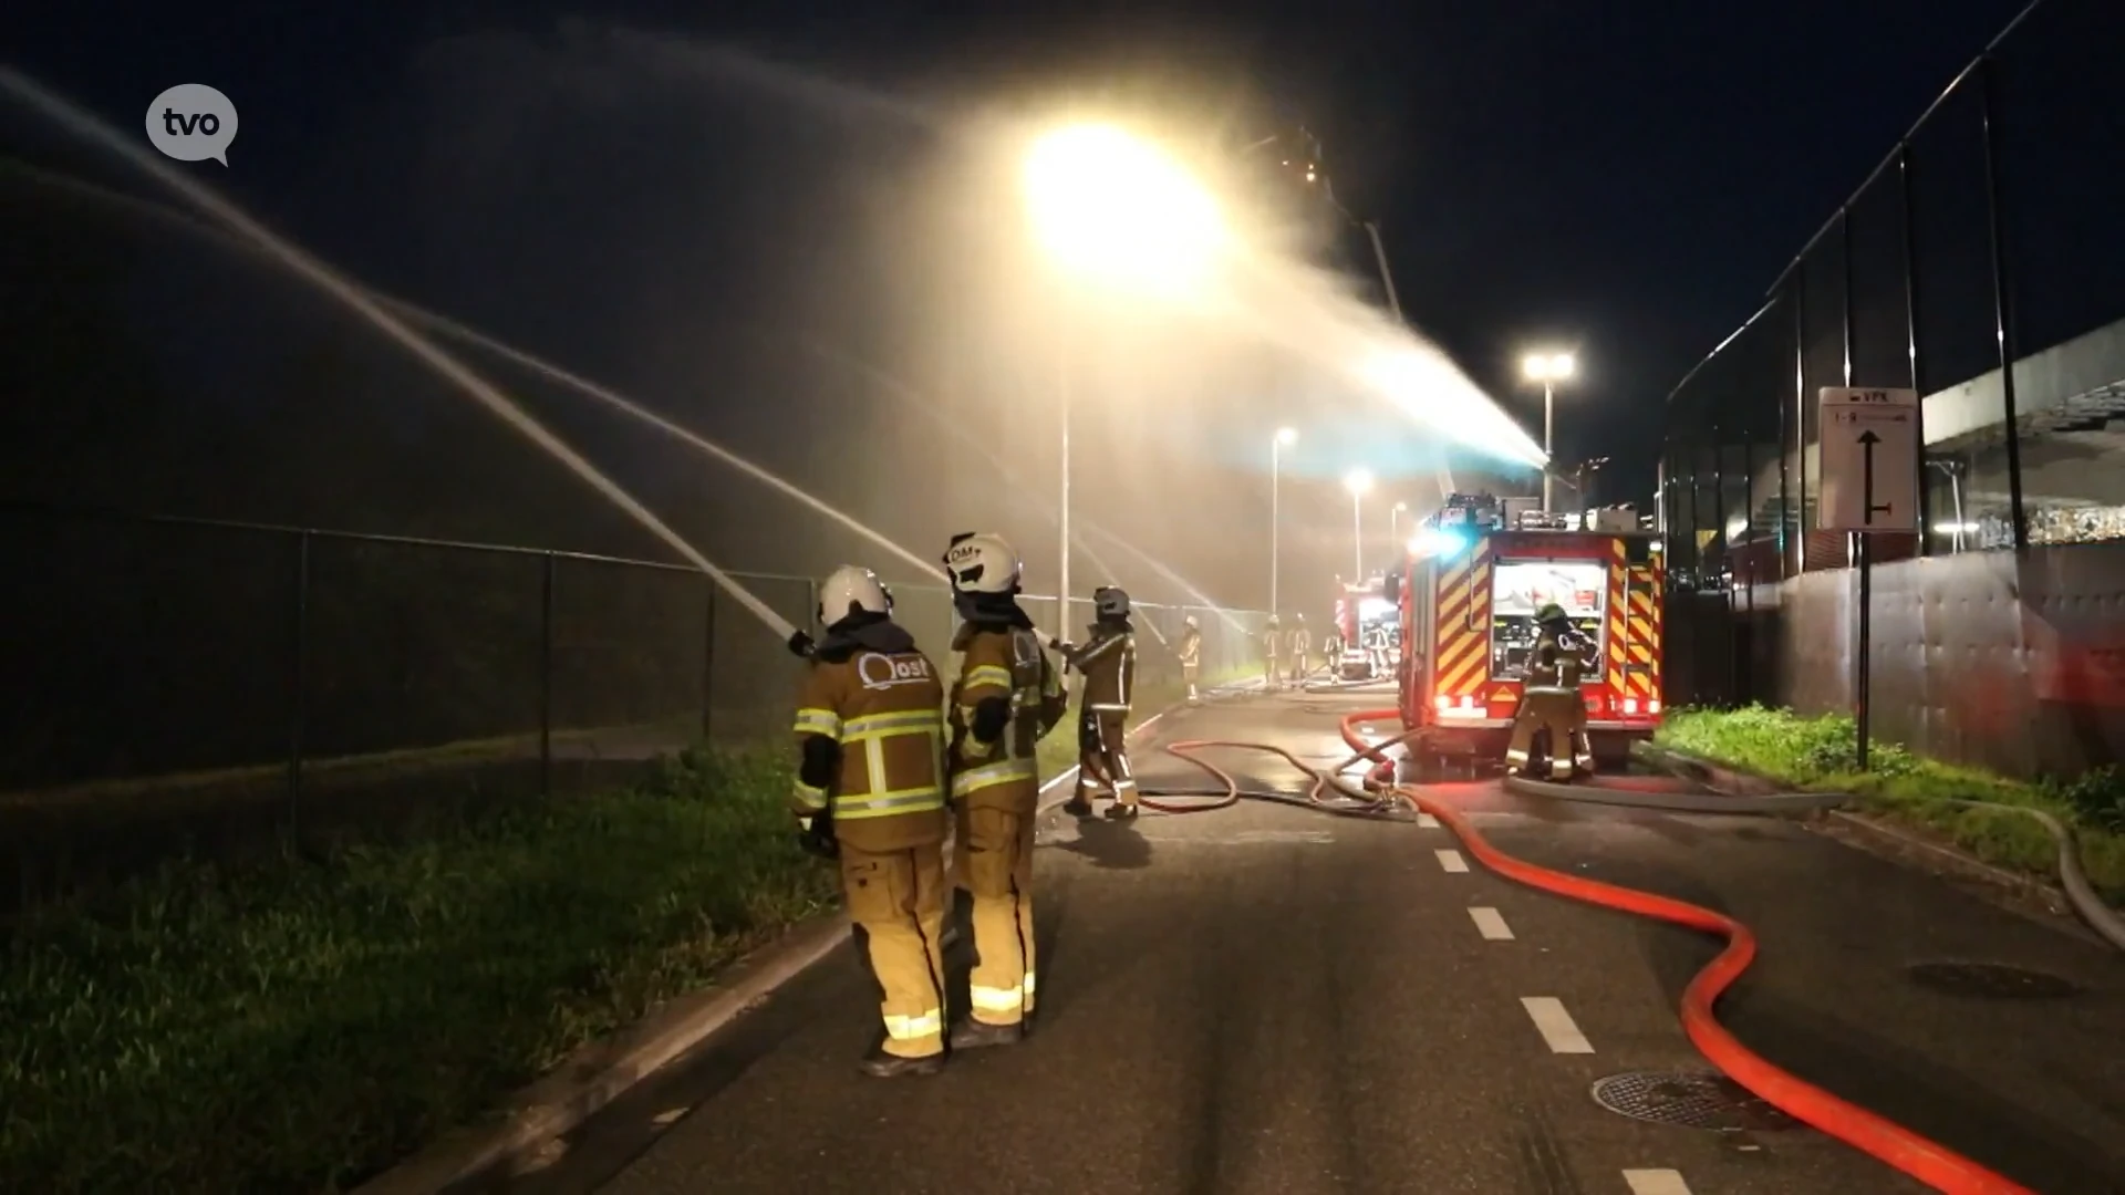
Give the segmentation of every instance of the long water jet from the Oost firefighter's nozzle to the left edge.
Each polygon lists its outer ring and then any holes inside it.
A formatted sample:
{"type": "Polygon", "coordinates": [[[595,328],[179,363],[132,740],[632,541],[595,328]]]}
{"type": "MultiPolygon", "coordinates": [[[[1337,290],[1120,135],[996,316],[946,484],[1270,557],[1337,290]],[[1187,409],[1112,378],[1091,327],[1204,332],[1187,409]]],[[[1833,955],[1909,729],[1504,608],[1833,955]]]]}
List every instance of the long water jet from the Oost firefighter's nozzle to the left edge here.
{"type": "Polygon", "coordinates": [[[272,230],[251,219],[234,202],[221,198],[210,187],[193,179],[187,179],[183,172],[170,168],[168,164],[157,162],[153,153],[136,145],[132,138],[117,134],[94,113],[87,113],[62,100],[34,79],[21,74],[19,70],[11,66],[0,66],[0,87],[13,91],[28,106],[36,108],[38,113],[45,113],[47,117],[57,121],[68,132],[81,136],[83,140],[102,145],[113,153],[117,153],[119,157],[123,157],[128,164],[138,166],[157,183],[170,187],[187,202],[204,211],[206,215],[219,219],[221,223],[230,225],[236,234],[244,236],[246,240],[270,253],[276,262],[300,274],[317,289],[346,304],[346,308],[368,319],[378,332],[395,340],[400,347],[404,347],[408,353],[412,353],[423,364],[434,368],[446,381],[455,383],[457,389],[461,389],[468,398],[491,410],[504,423],[521,432],[527,440],[531,440],[548,455],[552,455],[557,461],[567,466],[570,472],[574,472],[593,489],[604,493],[614,506],[618,506],[638,523],[642,523],[644,529],[663,540],[682,559],[686,559],[703,574],[708,574],[710,580],[714,580],[718,587],[722,587],[725,593],[735,598],[737,604],[750,610],[752,617],[756,617],[761,623],[767,625],[767,629],[776,632],[780,638],[790,638],[797,634],[797,627],[790,625],[788,619],[778,615],[767,602],[761,602],[750,589],[740,585],[731,574],[710,563],[710,559],[703,557],[699,551],[695,551],[693,544],[688,544],[678,532],[667,527],[657,515],[652,515],[646,506],[642,506],[642,502],[638,502],[631,493],[620,489],[618,483],[601,474],[597,466],[586,461],[580,453],[570,449],[559,436],[548,432],[540,421],[531,419],[531,415],[527,415],[523,408],[510,402],[508,395],[504,395],[499,389],[493,387],[493,383],[472,372],[461,361],[457,361],[457,357],[450,357],[448,353],[431,344],[427,338],[423,338],[419,332],[408,327],[404,321],[393,317],[378,300],[372,300],[368,293],[361,291],[361,287],[340,276],[338,270],[304,253],[295,245],[283,240],[272,230]]]}

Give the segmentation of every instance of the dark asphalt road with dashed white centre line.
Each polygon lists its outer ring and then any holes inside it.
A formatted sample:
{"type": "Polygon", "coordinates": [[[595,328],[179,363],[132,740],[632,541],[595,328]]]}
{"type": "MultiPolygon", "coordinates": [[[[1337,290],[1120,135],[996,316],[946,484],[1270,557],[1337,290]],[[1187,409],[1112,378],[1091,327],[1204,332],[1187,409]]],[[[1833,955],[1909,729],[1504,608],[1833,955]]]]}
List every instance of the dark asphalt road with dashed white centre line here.
{"type": "MultiPolygon", "coordinates": [[[[1247,697],[1158,731],[1326,763],[1354,704],[1247,697]]],[[[1150,746],[1137,759],[1152,780],[1201,780],[1150,746]]],[[[1269,757],[1220,761],[1298,791],[1269,757]]],[[[2038,1191],[2125,1193],[2114,953],[1791,823],[1445,791],[1509,853],[1751,923],[1762,957],[1721,1014],[1772,1061],[2038,1191]],[[1908,972],[1936,961],[2074,991],[1955,995],[1908,972]]],[[[1674,1006],[1715,944],[1490,876],[1447,829],[1252,804],[1058,821],[1043,842],[1041,1025],[1022,1046],[929,1080],[858,1076],[876,1004],[839,950],[487,1189],[1921,1191],[1770,1116],[1706,1131],[1596,1104],[1606,1076],[1708,1070],[1674,1006]]]]}

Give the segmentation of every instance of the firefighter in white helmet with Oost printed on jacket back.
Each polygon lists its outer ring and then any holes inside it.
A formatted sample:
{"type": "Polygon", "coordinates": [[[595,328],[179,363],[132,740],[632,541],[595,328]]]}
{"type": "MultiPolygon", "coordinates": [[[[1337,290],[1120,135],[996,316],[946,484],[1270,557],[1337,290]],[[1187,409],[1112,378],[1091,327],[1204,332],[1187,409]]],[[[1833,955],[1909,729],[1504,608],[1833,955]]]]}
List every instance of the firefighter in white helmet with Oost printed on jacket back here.
{"type": "Polygon", "coordinates": [[[844,566],[818,587],[793,806],[808,836],[837,844],[842,891],[880,987],[878,1078],[944,1067],[944,680],[892,621],[871,570],[844,566]],[[829,831],[831,827],[831,831],[829,831]]]}

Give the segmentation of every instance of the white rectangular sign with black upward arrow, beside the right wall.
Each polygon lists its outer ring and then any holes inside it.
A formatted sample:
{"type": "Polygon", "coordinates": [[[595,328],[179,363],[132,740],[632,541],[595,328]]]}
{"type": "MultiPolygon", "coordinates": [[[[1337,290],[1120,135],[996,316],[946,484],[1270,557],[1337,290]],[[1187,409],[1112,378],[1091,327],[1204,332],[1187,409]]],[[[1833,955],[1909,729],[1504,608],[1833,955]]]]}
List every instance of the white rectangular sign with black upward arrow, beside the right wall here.
{"type": "Polygon", "coordinates": [[[1821,391],[1821,532],[1919,529],[1919,391],[1821,391]]]}

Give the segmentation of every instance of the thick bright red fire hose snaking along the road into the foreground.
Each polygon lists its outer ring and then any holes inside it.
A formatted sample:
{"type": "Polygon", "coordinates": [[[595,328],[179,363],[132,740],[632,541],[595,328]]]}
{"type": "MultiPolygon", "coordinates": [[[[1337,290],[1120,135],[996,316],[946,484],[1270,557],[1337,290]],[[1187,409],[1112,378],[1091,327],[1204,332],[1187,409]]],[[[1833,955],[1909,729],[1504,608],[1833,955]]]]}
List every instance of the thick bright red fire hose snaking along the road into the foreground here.
{"type": "MultiPolygon", "coordinates": [[[[1373,770],[1375,778],[1381,768],[1392,770],[1392,763],[1383,761],[1379,746],[1364,742],[1358,734],[1358,723],[1388,719],[1398,721],[1400,712],[1364,710],[1343,719],[1343,742],[1360,755],[1381,761],[1381,765],[1373,770]]],[[[1320,776],[1315,774],[1315,778],[1320,776]]],[[[1449,827],[1462,840],[1462,846],[1466,846],[1477,861],[1509,880],[1585,904],[1619,908],[1624,912],[1636,912],[1638,916],[1651,916],[1726,938],[1728,944],[1719,950],[1719,957],[1698,972],[1696,978],[1689,980],[1689,987],[1683,989],[1683,1031],[1706,1061],[1766,1104],[1893,1165],[1936,1191],[1946,1191],[1949,1195],[2036,1195],[2027,1186],[1995,1174],[1938,1142],[1921,1138],[1885,1116],[1868,1112],[1857,1104],[1840,1099],[1821,1087],[1779,1070],[1742,1046],[1738,1038],[1728,1033],[1726,1027],[1721,1027],[1713,1016],[1713,1006],[1755,959],[1755,933],[1751,933],[1740,921],[1664,895],[1551,872],[1549,868],[1536,868],[1534,863],[1526,863],[1492,846],[1458,808],[1409,787],[1400,789],[1400,795],[1409,797],[1417,808],[1439,819],[1441,825],[1449,827]]]]}

